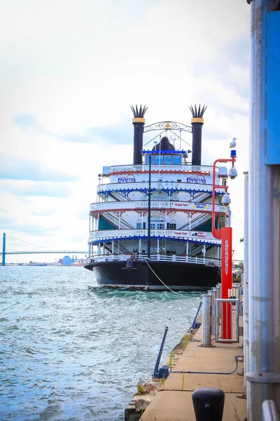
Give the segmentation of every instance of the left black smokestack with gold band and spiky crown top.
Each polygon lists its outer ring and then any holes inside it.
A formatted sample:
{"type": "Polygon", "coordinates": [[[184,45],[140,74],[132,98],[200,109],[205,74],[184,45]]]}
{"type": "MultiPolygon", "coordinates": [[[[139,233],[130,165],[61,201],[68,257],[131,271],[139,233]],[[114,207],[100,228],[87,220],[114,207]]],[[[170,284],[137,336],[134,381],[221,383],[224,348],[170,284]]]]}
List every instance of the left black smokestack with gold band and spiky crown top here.
{"type": "Polygon", "coordinates": [[[134,119],[132,119],[134,126],[133,164],[137,165],[142,163],[141,150],[143,149],[143,132],[145,124],[144,115],[148,107],[146,107],[146,105],[144,105],[144,107],[140,105],[140,108],[138,109],[137,105],[135,105],[135,108],[131,105],[130,108],[132,109],[134,115],[134,119]]]}

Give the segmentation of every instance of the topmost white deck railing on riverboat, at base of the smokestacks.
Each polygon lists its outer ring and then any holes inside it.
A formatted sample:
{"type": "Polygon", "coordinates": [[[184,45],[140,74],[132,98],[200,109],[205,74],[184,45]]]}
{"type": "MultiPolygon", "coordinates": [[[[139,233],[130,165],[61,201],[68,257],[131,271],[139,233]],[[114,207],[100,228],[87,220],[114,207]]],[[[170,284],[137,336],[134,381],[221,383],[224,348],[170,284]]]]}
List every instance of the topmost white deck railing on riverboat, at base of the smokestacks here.
{"type": "MultiPolygon", "coordinates": [[[[148,171],[148,165],[117,165],[110,167],[110,175],[114,173],[120,173],[127,171],[136,172],[136,171],[148,171]]],[[[153,171],[180,171],[181,173],[212,173],[213,167],[207,165],[153,165],[153,171]]],[[[216,168],[218,172],[218,168],[216,168]]]]}

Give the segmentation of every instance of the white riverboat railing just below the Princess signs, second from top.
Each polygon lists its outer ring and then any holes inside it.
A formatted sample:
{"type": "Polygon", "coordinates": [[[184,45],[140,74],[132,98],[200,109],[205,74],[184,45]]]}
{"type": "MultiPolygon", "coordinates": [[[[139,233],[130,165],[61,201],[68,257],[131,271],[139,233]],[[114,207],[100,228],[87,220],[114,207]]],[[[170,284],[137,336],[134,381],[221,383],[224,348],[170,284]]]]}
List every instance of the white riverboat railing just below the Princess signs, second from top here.
{"type": "MultiPolygon", "coordinates": [[[[207,186],[209,186],[209,192],[211,192],[212,190],[212,183],[205,183],[205,184],[200,184],[200,183],[188,183],[188,182],[177,182],[177,181],[162,181],[160,182],[161,187],[158,187],[158,181],[152,181],[151,182],[151,189],[152,190],[175,190],[176,192],[187,192],[188,190],[196,190],[197,192],[203,192],[207,186]]],[[[97,186],[97,193],[106,193],[106,192],[125,192],[125,191],[137,191],[137,192],[141,192],[144,190],[148,190],[148,180],[147,181],[141,181],[141,182],[122,182],[122,183],[118,183],[118,182],[113,182],[113,183],[108,183],[108,184],[103,184],[103,185],[98,185],[97,186]]],[[[216,192],[220,192],[220,193],[224,193],[225,192],[225,188],[221,187],[221,188],[216,188],[215,189],[216,192]]]]}

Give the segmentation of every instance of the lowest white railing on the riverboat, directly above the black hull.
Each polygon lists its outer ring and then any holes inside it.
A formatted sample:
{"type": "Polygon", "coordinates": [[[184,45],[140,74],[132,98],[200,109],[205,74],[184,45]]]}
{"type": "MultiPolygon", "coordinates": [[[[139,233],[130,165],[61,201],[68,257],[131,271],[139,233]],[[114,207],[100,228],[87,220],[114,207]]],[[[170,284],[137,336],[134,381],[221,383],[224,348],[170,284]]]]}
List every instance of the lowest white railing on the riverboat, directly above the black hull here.
{"type": "MultiPolygon", "coordinates": [[[[94,262],[113,262],[113,261],[126,261],[131,258],[131,253],[127,254],[102,254],[102,255],[92,255],[90,258],[87,258],[87,264],[94,262]]],[[[146,254],[138,254],[137,261],[147,260],[148,256],[146,254]]],[[[150,260],[160,261],[160,262],[187,262],[187,263],[196,263],[198,265],[207,265],[207,266],[218,266],[221,267],[221,260],[219,259],[209,259],[209,258],[194,258],[192,256],[177,256],[177,255],[161,255],[161,254],[152,254],[150,260]]]]}

